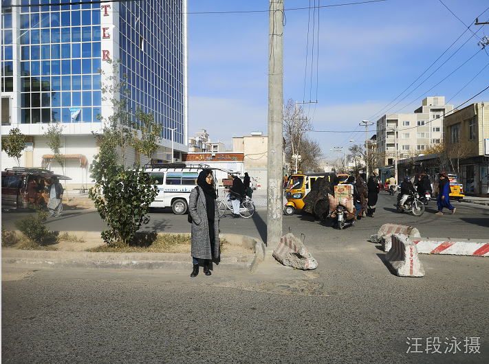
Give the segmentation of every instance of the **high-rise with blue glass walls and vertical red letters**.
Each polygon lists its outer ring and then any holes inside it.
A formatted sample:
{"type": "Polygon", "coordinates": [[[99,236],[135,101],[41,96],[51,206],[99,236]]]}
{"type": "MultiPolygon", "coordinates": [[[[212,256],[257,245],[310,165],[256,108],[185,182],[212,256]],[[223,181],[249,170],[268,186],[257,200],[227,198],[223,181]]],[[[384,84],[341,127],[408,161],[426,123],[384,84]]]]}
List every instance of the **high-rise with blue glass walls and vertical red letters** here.
{"type": "MultiPolygon", "coordinates": [[[[163,126],[155,159],[172,160],[175,129],[175,157],[181,160],[188,143],[186,0],[70,4],[78,2],[3,4],[2,135],[11,128],[29,135],[34,156],[25,163],[34,166],[41,165],[36,150],[45,146],[45,124],[65,125],[67,152],[76,152],[77,143],[85,147],[91,132],[101,129],[97,116],[111,115],[100,89],[106,80],[98,73],[111,73],[105,62],[110,58],[122,61],[121,77],[127,74],[129,109],[140,107],[163,126]]],[[[8,163],[3,153],[2,161],[8,163]]]]}

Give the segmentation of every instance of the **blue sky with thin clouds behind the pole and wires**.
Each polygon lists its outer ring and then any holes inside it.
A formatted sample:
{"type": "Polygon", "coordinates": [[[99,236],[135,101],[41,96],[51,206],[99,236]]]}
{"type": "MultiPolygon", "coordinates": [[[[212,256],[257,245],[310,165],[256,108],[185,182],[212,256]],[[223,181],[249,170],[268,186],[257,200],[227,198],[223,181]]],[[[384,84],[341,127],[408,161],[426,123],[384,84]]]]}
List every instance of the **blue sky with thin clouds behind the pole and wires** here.
{"type": "MultiPolygon", "coordinates": [[[[489,36],[489,25],[473,25],[477,16],[479,22],[489,21],[489,2],[442,1],[460,20],[439,0],[316,8],[315,14],[287,9],[354,1],[285,0],[284,100],[317,100],[305,105],[315,130],[356,130],[311,133],[324,157],[335,146],[347,149],[350,139],[365,140],[365,127],[358,126],[362,120],[412,113],[427,96],[445,96],[447,102],[451,99],[448,104],[459,106],[489,86],[489,66],[483,69],[489,64],[489,46],[486,53],[477,45],[489,36]],[[472,24],[476,36],[462,22],[472,24]]],[[[219,139],[229,147],[232,135],[250,135],[252,130],[268,135],[268,12],[193,14],[252,10],[268,10],[268,1],[188,0],[191,136],[204,128],[211,141],[219,139]]],[[[481,101],[489,102],[489,89],[468,104],[481,101]]],[[[371,130],[369,137],[375,133],[371,130]]]]}

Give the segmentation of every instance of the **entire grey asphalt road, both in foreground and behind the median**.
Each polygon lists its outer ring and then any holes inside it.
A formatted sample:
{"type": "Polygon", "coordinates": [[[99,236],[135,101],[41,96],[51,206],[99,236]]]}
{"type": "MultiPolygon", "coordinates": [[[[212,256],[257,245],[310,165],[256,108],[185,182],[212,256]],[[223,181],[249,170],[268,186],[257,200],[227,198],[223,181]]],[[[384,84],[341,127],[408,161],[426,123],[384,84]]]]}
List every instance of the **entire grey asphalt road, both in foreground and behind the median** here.
{"type": "MultiPolygon", "coordinates": [[[[488,207],[455,203],[455,215],[435,216],[432,203],[416,218],[394,212],[394,198],[381,194],[376,217],[344,231],[284,216],[284,231],[305,234],[314,271],[273,261],[253,274],[217,266],[196,278],[3,268],[2,362],[488,363],[489,259],[420,255],[424,277],[397,277],[380,245],[367,241],[383,223],[428,237],[487,238],[488,207]]],[[[94,227],[90,214],[67,212],[51,228],[69,219],[94,227]]],[[[264,239],[265,216],[224,218],[221,230],[264,239]]],[[[153,212],[151,224],[189,230],[184,216],[167,212],[153,212]]]]}

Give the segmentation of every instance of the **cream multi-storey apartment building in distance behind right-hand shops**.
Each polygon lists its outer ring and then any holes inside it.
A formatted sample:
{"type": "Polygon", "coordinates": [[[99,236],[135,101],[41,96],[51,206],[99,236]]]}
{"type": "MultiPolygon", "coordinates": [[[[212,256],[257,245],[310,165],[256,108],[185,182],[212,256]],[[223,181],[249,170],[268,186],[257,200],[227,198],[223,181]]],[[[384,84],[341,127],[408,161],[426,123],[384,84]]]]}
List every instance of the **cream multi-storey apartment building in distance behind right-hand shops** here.
{"type": "Polygon", "coordinates": [[[420,154],[443,140],[444,118],[453,111],[444,96],[425,98],[414,113],[386,114],[377,120],[376,149],[384,153],[385,164],[420,154]]]}

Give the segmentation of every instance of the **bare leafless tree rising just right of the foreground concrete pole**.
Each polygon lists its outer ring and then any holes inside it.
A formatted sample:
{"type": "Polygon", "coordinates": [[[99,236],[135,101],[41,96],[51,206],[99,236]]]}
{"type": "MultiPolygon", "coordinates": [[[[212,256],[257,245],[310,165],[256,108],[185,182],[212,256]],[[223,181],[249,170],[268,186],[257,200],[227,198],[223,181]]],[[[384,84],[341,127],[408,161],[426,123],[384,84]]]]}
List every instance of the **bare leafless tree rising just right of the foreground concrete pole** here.
{"type": "MultiPolygon", "coordinates": [[[[292,155],[301,155],[297,165],[298,170],[302,172],[317,170],[323,157],[318,142],[307,135],[307,131],[312,129],[312,121],[305,116],[303,107],[297,106],[294,100],[289,99],[283,106],[285,160],[292,161],[292,155]]],[[[292,161],[292,166],[295,167],[295,160],[292,161]]]]}

